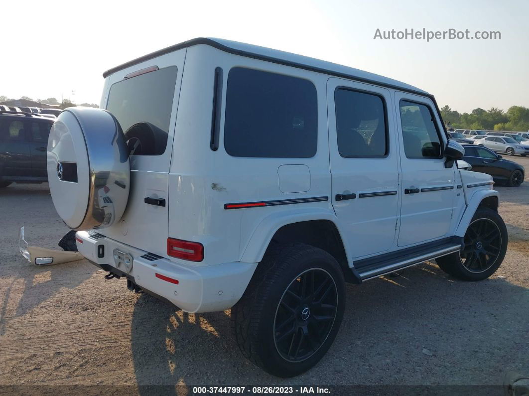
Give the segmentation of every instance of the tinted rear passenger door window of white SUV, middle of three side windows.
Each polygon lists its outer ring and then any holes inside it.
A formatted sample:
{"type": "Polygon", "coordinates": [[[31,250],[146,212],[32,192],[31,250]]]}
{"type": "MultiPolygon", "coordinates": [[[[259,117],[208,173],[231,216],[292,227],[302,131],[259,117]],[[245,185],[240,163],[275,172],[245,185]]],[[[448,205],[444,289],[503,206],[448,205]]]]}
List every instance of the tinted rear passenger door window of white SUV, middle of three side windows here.
{"type": "Polygon", "coordinates": [[[336,89],[338,151],[346,158],[387,154],[385,104],[378,95],[336,89]]]}

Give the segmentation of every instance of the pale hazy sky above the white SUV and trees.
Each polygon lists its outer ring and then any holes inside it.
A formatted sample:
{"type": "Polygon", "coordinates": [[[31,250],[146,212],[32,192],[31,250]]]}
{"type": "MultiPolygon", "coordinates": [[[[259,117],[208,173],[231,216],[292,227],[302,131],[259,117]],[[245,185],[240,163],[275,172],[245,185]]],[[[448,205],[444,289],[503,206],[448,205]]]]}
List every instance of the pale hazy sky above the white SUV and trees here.
{"type": "Polygon", "coordinates": [[[217,37],[404,81],[460,112],[529,107],[526,0],[25,0],[23,8],[4,2],[0,15],[0,95],[10,98],[99,104],[105,70],[191,38],[217,37]],[[423,28],[499,31],[501,40],[373,39],[377,29],[423,28]]]}

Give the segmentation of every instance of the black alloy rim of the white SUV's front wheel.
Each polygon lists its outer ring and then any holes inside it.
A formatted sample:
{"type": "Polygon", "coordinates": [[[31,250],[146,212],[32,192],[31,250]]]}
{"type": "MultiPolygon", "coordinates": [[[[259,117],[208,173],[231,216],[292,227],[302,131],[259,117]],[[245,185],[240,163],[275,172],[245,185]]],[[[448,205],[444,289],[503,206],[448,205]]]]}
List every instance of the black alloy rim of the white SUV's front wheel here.
{"type": "Polygon", "coordinates": [[[470,223],[460,252],[461,262],[474,273],[485,272],[498,259],[501,251],[501,233],[497,224],[488,218],[470,223]]]}

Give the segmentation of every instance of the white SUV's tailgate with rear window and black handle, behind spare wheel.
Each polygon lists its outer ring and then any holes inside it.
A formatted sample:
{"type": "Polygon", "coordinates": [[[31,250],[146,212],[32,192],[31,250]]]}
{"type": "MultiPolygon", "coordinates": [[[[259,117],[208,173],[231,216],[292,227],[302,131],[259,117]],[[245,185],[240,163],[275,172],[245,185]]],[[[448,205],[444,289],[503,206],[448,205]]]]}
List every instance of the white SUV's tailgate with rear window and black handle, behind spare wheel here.
{"type": "Polygon", "coordinates": [[[100,233],[165,257],[171,205],[168,174],[185,51],[115,72],[107,82],[104,103],[129,146],[131,189],[121,221],[100,233]]]}

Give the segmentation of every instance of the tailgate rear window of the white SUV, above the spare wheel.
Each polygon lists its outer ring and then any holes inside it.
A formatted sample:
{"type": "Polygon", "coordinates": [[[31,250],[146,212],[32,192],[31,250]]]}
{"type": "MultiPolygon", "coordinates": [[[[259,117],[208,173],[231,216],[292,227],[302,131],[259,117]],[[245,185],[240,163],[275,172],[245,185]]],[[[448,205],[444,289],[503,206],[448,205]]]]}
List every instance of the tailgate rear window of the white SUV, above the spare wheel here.
{"type": "Polygon", "coordinates": [[[131,155],[161,155],[167,147],[177,68],[116,82],[106,109],[120,123],[131,155]]]}

